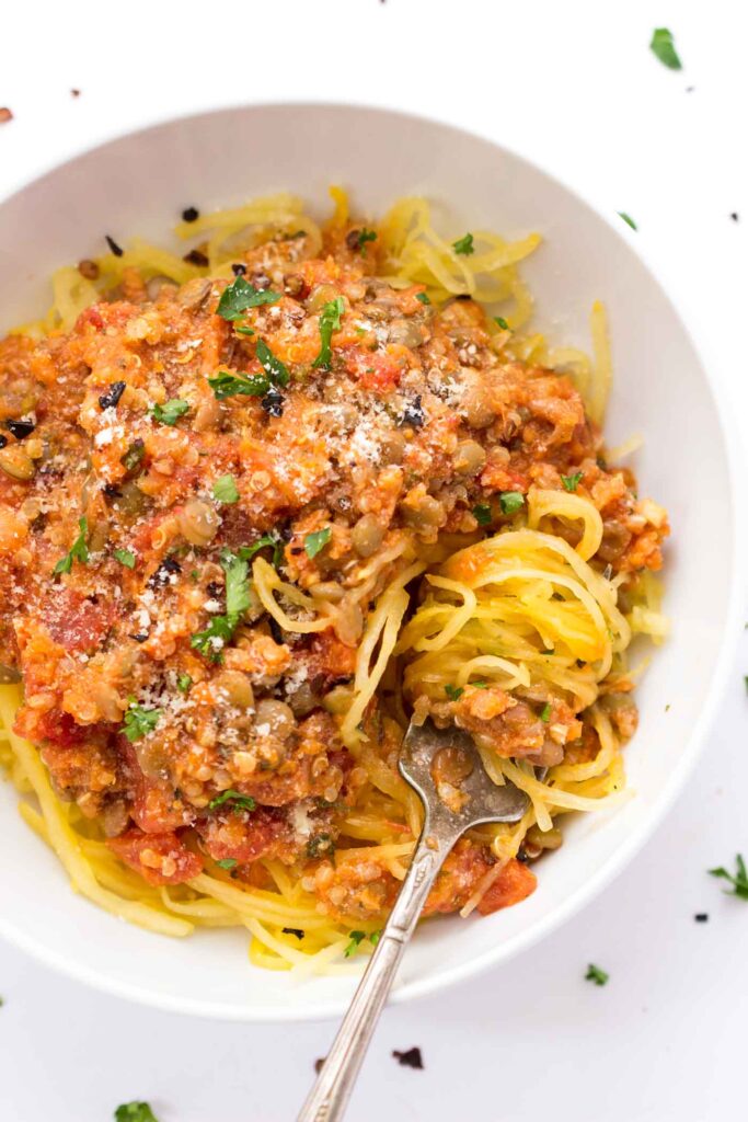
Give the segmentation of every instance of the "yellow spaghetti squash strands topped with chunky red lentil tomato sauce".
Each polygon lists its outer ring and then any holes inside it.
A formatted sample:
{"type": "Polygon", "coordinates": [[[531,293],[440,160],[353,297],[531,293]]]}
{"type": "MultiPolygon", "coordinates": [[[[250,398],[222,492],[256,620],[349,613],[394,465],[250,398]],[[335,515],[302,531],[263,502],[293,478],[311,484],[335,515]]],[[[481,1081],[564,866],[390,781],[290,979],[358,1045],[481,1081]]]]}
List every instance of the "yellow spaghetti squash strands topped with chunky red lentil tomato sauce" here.
{"type": "Polygon", "coordinates": [[[296,971],[377,940],[419,829],[412,716],[529,797],[426,905],[490,913],[558,816],[620,798],[626,651],[665,632],[665,513],[603,452],[602,309],[593,360],[550,349],[536,236],[444,241],[423,200],[369,227],[332,194],[323,227],[288,195],[190,208],[184,258],[109,237],[0,342],[21,813],[116,914],[241,926],[296,971]]]}

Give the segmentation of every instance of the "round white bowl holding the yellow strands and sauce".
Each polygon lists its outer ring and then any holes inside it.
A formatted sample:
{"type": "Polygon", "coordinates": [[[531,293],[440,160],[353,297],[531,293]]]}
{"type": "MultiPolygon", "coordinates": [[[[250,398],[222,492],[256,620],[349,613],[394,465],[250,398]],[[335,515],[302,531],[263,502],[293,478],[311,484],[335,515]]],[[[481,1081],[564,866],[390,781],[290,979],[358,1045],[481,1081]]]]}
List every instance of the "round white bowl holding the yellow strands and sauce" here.
{"type": "MultiPolygon", "coordinates": [[[[207,211],[281,188],[325,212],[331,182],[350,187],[364,214],[423,193],[440,204],[446,232],[543,233],[526,267],[538,324],[558,341],[587,346],[592,301],[606,302],[616,366],[609,441],[645,436],[636,457],[641,488],[667,507],[673,525],[666,598],[673,634],[638,691],[640,726],[627,749],[636,798],[610,816],[567,820],[563,848],[541,864],[538,889],[523,904],[487,919],[428,923],[406,955],[394,995],[404,1000],[505,962],[547,935],[620,872],[672,802],[729,665],[728,624],[738,611],[737,475],[708,376],[635,250],[637,236],[512,153],[389,111],[229,109],[131,134],[55,168],[0,204],[0,327],[45,307],[50,270],[101,252],[104,233],[164,240],[184,206],[207,211]]],[[[170,940],[75,896],[16,801],[3,784],[0,932],[45,963],[179,1012],[296,1020],[344,1008],[352,980],[294,984],[255,969],[241,932],[170,940]]]]}

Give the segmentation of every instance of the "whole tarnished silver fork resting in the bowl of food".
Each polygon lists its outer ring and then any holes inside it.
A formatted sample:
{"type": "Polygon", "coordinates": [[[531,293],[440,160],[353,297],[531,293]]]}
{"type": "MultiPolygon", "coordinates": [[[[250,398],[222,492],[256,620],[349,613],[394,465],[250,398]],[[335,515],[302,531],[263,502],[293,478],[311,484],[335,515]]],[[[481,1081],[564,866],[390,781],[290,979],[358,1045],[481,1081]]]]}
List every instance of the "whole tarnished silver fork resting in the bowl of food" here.
{"type": "MultiPolygon", "coordinates": [[[[516,822],[527,795],[511,783],[497,787],[486,774],[470,736],[456,728],[410,725],[399,762],[403,778],[421,795],[424,825],[408,874],[353,995],[327,1058],[297,1122],[339,1122],[387,1001],[405,946],[452,846],[481,822],[516,822]],[[437,792],[442,774],[451,783],[450,809],[437,792]]],[[[443,790],[443,789],[442,789],[443,790]]]]}

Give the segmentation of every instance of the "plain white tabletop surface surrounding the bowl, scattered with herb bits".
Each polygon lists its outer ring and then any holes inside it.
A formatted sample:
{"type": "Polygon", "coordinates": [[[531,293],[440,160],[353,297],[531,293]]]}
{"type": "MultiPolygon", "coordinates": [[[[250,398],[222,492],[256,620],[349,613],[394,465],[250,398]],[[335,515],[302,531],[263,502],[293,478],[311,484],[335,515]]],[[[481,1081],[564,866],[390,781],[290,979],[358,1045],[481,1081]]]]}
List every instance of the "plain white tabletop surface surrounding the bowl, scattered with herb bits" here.
{"type": "MultiPolygon", "coordinates": [[[[0,127],[0,195],[107,134],[251,100],[398,105],[516,145],[634,215],[710,339],[745,434],[742,2],[68,0],[9,4],[1,34],[0,105],[15,120],[0,127]],[[683,72],[650,54],[655,26],[674,31],[683,72]]],[[[701,763],[647,848],[545,944],[388,1011],[352,1122],[747,1116],[748,903],[705,873],[748,855],[741,656],[701,763]],[[708,923],[694,922],[700,911],[708,923]],[[610,972],[604,988],[583,981],[589,962],[610,972]],[[412,1045],[424,1072],[390,1057],[412,1045]]],[[[4,945],[0,994],[0,1116],[13,1122],[103,1122],[132,1098],[160,1122],[290,1122],[334,1028],[151,1012],[4,945]]]]}

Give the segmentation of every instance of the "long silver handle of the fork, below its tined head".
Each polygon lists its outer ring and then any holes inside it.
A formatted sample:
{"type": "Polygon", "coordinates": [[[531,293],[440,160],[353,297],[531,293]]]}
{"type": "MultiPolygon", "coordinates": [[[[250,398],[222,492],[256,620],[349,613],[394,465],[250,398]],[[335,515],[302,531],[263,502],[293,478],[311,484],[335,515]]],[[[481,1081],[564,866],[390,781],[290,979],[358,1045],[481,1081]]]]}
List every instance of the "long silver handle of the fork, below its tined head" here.
{"type": "Polygon", "coordinates": [[[438,829],[438,836],[434,836],[430,824],[424,824],[410,868],[387,926],[297,1122],[339,1122],[343,1118],[403,951],[413,935],[436,874],[461,833],[462,829],[456,834],[454,828],[438,829]]]}

